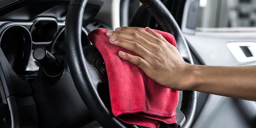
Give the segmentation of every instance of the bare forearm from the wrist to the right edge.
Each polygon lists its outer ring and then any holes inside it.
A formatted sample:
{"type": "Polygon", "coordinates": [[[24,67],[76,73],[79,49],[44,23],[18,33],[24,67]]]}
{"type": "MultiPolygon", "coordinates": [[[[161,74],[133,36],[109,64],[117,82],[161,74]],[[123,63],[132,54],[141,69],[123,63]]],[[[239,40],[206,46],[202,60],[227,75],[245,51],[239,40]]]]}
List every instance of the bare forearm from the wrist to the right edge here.
{"type": "Polygon", "coordinates": [[[256,101],[256,66],[191,67],[188,90],[256,101]]]}

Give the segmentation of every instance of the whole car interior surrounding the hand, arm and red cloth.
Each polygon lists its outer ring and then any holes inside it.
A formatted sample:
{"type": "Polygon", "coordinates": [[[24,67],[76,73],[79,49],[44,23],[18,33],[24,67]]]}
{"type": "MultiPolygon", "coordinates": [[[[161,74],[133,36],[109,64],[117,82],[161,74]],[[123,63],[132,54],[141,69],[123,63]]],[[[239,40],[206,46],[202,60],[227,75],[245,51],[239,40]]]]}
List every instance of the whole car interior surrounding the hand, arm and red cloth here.
{"type": "MultiPolygon", "coordinates": [[[[256,0],[0,0],[0,128],[144,128],[111,112],[105,62],[88,34],[150,27],[196,65],[256,64],[256,0]]],[[[255,128],[256,102],[179,91],[177,124],[255,128]]]]}

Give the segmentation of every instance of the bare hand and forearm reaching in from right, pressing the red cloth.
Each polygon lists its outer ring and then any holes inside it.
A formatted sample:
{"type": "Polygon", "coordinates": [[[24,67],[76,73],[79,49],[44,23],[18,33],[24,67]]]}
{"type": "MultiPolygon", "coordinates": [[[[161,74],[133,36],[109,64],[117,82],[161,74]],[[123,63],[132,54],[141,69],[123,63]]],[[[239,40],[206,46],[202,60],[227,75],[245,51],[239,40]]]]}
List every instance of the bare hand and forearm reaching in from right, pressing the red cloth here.
{"type": "Polygon", "coordinates": [[[256,101],[256,65],[202,66],[186,63],[179,51],[150,28],[116,28],[109,42],[136,53],[118,55],[165,87],[256,101]]]}

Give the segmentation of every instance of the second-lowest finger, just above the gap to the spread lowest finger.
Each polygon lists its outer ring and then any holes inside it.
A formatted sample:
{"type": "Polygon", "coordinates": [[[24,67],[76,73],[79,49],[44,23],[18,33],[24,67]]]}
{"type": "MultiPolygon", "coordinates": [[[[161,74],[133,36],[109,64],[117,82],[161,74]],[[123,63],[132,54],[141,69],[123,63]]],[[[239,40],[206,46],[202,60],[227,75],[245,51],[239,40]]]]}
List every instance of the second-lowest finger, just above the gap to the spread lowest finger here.
{"type": "Polygon", "coordinates": [[[124,49],[132,51],[133,53],[139,55],[140,57],[142,57],[145,60],[149,60],[150,59],[149,55],[152,54],[146,48],[142,47],[140,44],[133,42],[133,41],[125,40],[123,38],[111,36],[109,38],[109,42],[116,46],[120,46],[124,49]]]}

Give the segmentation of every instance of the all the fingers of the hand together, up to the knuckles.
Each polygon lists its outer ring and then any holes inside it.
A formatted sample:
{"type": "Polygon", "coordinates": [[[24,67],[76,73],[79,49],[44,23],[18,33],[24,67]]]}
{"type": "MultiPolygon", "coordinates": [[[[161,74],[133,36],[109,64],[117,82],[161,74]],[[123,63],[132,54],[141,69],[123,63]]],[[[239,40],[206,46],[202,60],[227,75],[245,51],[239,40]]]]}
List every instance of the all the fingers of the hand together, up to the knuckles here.
{"type": "Polygon", "coordinates": [[[154,62],[155,60],[152,60],[152,58],[158,53],[163,53],[166,43],[169,44],[161,34],[156,33],[148,27],[146,31],[135,27],[116,28],[116,31],[107,31],[106,35],[110,37],[109,42],[111,44],[137,54],[138,56],[125,52],[118,53],[122,59],[137,65],[139,68],[144,68],[141,65],[145,66],[154,62]]]}

